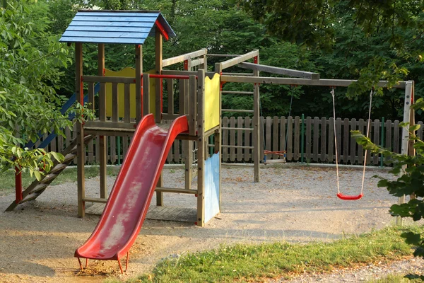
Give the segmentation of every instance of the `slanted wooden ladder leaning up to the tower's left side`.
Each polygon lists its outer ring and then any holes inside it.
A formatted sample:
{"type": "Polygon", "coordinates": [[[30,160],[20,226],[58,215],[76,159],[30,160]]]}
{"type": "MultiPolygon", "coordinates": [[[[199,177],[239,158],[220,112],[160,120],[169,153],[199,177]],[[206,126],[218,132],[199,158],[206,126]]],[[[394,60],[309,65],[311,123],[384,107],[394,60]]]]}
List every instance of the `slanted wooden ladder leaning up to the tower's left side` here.
{"type": "MultiPolygon", "coordinates": [[[[88,144],[95,136],[88,135],[84,138],[84,144],[88,144]]],[[[47,175],[42,176],[41,180],[34,180],[23,192],[20,200],[14,200],[11,205],[8,206],[6,212],[11,212],[15,207],[24,202],[35,200],[39,195],[46,190],[46,188],[53,182],[57,176],[64,171],[66,166],[69,165],[76,158],[76,139],[71,141],[66,149],[61,153],[64,155],[64,161],[59,162],[55,160],[53,162],[52,170],[47,175]]]]}

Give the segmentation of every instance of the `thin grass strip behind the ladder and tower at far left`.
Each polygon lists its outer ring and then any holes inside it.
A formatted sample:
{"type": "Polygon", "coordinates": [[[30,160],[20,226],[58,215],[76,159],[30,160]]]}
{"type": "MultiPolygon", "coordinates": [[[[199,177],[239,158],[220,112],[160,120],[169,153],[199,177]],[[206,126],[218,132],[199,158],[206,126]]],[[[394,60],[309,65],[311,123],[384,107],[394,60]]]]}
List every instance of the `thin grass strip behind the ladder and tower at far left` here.
{"type": "MultiPolygon", "coordinates": [[[[86,178],[93,178],[99,175],[99,167],[86,168],[86,178]]],[[[107,167],[107,175],[116,176],[119,168],[107,167]]],[[[0,192],[11,192],[15,190],[15,174],[13,171],[6,171],[0,173],[1,185],[0,192]]],[[[27,187],[35,180],[35,177],[30,177],[29,173],[22,174],[22,185],[27,187]]],[[[66,182],[76,182],[76,168],[66,168],[59,176],[52,182],[52,185],[59,185],[66,182]]]]}

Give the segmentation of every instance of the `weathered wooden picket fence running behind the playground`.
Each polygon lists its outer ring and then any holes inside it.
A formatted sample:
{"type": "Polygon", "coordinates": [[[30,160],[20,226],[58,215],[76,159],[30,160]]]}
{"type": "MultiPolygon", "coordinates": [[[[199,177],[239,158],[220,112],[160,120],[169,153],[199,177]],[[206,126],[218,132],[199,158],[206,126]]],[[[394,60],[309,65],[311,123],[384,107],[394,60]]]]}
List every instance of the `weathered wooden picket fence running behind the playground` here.
{"type": "MultiPolygon", "coordinates": [[[[303,161],[307,163],[334,163],[336,154],[334,146],[334,120],[326,117],[261,117],[260,149],[261,160],[264,158],[264,149],[269,151],[287,151],[287,161],[303,161]]],[[[418,122],[423,125],[423,122],[418,122]]],[[[252,132],[242,130],[252,127],[252,118],[224,117],[223,127],[240,129],[223,129],[222,161],[226,163],[252,162],[252,148],[237,148],[237,146],[253,146],[252,132]]],[[[380,120],[371,123],[370,139],[375,143],[399,153],[401,148],[401,127],[399,121],[387,120],[382,125],[380,120]],[[383,135],[382,135],[383,131],[383,135]]],[[[364,150],[351,137],[351,130],[358,129],[365,133],[367,121],[336,119],[338,161],[343,164],[363,163],[364,150]]],[[[69,145],[76,132],[66,131],[66,138],[56,137],[46,150],[62,151],[69,145]]],[[[422,139],[423,129],[417,132],[422,139]]],[[[120,164],[128,149],[130,138],[107,137],[108,161],[111,164],[120,164]]],[[[210,142],[211,144],[212,142],[210,142]]],[[[40,144],[40,141],[37,142],[40,144]]],[[[37,146],[37,144],[35,144],[37,146]]],[[[86,163],[99,163],[98,139],[90,141],[86,149],[86,163]]],[[[182,163],[182,141],[175,141],[167,156],[168,163],[182,163]]],[[[279,158],[277,155],[267,158],[279,158]]],[[[381,156],[370,154],[367,164],[379,165],[381,156]]]]}

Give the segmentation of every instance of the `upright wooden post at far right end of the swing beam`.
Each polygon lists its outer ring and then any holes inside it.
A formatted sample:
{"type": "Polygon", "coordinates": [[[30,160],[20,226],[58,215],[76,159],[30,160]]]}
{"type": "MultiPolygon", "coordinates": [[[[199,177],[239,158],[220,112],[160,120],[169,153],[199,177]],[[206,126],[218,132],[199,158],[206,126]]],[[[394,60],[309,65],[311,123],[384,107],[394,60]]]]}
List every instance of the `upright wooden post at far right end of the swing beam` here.
{"type": "MultiPolygon", "coordinates": [[[[411,98],[412,98],[413,81],[406,81],[405,86],[405,101],[404,101],[404,123],[409,123],[411,118],[411,98]]],[[[409,125],[402,128],[402,147],[401,154],[408,154],[409,143],[409,125]]],[[[406,165],[402,166],[401,175],[406,170],[406,165]]],[[[405,203],[405,196],[399,197],[398,204],[405,203]]],[[[396,224],[402,224],[400,216],[396,217],[396,224]]]]}

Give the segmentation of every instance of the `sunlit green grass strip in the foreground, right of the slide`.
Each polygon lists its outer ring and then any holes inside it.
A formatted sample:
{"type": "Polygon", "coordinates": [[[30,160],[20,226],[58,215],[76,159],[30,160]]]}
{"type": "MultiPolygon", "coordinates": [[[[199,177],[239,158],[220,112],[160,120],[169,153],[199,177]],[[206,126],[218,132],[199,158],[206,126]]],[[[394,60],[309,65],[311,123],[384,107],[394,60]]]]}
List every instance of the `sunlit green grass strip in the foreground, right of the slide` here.
{"type": "MultiPolygon", "coordinates": [[[[408,229],[424,231],[418,227],[408,229]]],[[[222,246],[178,259],[162,260],[150,274],[127,282],[252,282],[398,260],[412,254],[411,246],[400,236],[402,231],[405,228],[391,227],[332,243],[222,246]]],[[[108,282],[119,281],[112,279],[108,282]]]]}

